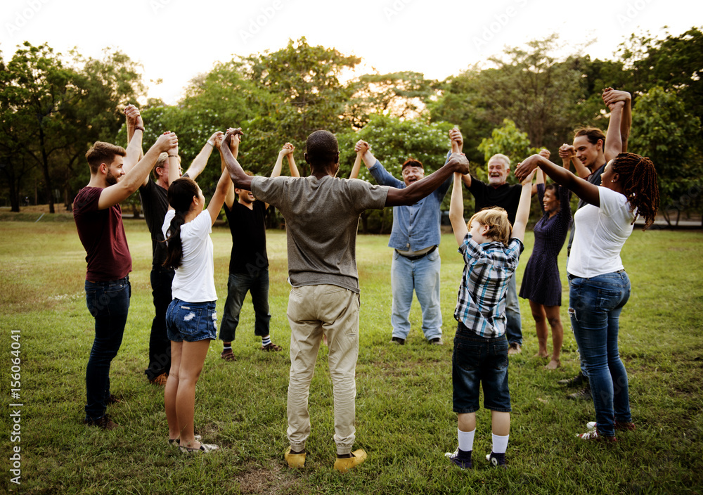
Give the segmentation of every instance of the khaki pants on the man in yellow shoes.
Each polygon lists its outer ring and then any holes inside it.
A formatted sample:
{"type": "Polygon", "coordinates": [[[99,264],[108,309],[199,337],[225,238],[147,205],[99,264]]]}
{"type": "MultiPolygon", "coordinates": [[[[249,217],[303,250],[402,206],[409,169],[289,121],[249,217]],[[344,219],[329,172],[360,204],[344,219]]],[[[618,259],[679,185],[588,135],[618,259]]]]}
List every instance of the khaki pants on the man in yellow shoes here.
{"type": "Polygon", "coordinates": [[[308,396],[323,330],[329,345],[330,377],[335,400],[337,455],[354,445],[356,358],[359,356],[359,294],[337,285],[294,287],[288,298],[290,379],[288,441],[293,451],[305,449],[310,435],[308,396]]]}

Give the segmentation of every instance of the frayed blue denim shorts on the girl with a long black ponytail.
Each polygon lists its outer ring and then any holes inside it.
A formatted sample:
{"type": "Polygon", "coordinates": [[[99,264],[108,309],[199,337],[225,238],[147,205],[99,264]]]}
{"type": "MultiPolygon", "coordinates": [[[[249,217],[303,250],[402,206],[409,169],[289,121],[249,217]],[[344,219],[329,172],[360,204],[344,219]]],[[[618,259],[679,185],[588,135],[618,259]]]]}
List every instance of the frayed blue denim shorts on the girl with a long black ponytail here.
{"type": "Polygon", "coordinates": [[[166,330],[172,342],[198,342],[217,338],[215,302],[172,300],[166,310],[166,330]]]}

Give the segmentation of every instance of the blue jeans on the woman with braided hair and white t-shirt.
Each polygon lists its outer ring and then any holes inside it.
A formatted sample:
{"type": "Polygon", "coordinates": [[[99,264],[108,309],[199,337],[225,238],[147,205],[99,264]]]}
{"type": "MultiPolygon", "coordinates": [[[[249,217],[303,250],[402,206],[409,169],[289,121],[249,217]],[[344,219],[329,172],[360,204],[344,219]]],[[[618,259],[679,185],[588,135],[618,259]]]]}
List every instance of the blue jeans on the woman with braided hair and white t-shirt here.
{"type": "Polygon", "coordinates": [[[569,316],[586,361],[598,432],[614,435],[614,420],[631,421],[627,372],[617,347],[620,312],[630,297],[624,270],[591,278],[569,276],[569,316]]]}

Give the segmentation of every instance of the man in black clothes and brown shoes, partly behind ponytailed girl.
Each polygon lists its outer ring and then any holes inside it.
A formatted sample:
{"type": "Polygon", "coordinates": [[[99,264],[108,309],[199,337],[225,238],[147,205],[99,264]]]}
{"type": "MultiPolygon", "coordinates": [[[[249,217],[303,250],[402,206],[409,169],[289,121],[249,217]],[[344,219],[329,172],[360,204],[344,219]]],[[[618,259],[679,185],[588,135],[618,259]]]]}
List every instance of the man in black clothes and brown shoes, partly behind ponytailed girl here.
{"type": "MultiPolygon", "coordinates": [[[[131,139],[135,127],[143,127],[141,116],[136,120],[127,119],[127,139],[131,139]]],[[[195,180],[200,175],[213,148],[219,149],[219,143],[224,134],[217,131],[205,143],[198,156],[195,157],[191,167],[188,167],[186,176],[195,180]]],[[[166,385],[168,373],[171,368],[171,342],[166,333],[166,310],[173,299],[171,285],[175,272],[165,268],[166,243],[162,226],[164,217],[169,208],[167,193],[169,189],[169,159],[167,153],[161,153],[153,170],[154,179],[148,176],[139,187],[139,195],[144,210],[144,218],[151,233],[151,246],[153,252],[151,265],[151,289],[153,295],[155,315],[151,323],[149,337],[149,364],[144,370],[150,383],[166,385]]]]}

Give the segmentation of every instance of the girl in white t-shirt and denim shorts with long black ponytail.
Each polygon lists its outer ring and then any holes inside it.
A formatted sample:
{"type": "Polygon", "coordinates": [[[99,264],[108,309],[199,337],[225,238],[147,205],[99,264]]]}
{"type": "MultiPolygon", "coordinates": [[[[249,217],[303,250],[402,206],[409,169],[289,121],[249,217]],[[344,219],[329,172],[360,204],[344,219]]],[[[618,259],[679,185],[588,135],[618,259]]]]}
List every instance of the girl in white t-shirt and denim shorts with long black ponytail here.
{"type": "Polygon", "coordinates": [[[168,245],[164,266],[176,271],[172,285],[174,299],[166,312],[171,370],[164,402],[169,443],[178,444],[185,453],[209,452],[219,447],[201,443],[200,436],[193,432],[195,383],[205,364],[210,340],[217,338],[217,293],[209,234],[231,179],[225,169],[212,200],[203,210],[205,198],[198,184],[188,177],[178,178],[177,155],[177,148],[169,150],[169,210],[162,227],[168,245]]]}

